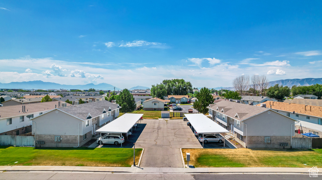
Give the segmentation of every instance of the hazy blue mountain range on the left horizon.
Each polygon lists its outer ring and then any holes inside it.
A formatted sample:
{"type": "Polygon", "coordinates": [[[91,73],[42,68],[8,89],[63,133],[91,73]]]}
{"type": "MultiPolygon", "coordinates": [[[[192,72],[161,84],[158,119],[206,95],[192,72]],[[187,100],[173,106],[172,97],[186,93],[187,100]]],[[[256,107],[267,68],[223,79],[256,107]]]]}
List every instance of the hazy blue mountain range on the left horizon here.
{"type": "MultiPolygon", "coordinates": [[[[43,82],[43,81],[24,81],[24,82],[11,82],[0,83],[0,88],[5,89],[98,89],[98,90],[114,90],[114,86],[107,83],[100,84],[85,84],[85,85],[62,85],[58,83],[43,82]]],[[[115,90],[121,90],[115,87],[115,90]]]]}

